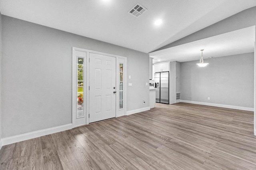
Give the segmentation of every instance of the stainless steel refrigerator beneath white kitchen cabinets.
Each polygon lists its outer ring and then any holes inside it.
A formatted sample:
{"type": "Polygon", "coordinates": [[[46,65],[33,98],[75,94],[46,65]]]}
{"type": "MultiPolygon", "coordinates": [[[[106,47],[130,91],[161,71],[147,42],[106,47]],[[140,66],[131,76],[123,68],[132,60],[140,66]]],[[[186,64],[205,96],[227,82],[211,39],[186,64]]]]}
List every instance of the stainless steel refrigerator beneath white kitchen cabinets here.
{"type": "Polygon", "coordinates": [[[156,102],[169,104],[169,72],[156,72],[154,74],[156,88],[156,102]]]}

